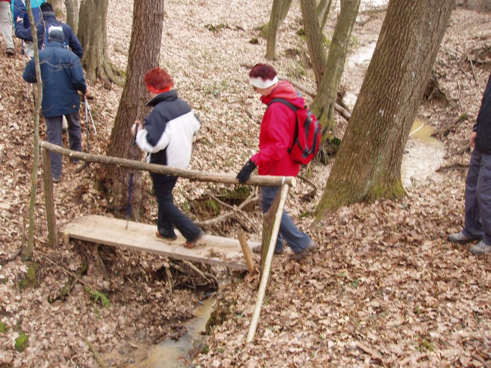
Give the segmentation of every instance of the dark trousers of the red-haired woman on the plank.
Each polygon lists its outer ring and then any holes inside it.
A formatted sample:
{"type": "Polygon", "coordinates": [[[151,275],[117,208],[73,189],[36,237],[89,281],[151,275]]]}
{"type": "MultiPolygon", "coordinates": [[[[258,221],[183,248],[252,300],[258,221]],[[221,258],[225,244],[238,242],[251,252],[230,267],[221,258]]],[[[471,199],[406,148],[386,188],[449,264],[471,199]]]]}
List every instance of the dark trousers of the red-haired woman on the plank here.
{"type": "Polygon", "coordinates": [[[174,205],[172,190],[174,189],[177,177],[171,175],[150,175],[153,180],[153,192],[159,204],[159,216],[157,219],[159,233],[167,238],[172,238],[175,236],[175,226],[186,240],[195,240],[201,229],[174,205]]]}

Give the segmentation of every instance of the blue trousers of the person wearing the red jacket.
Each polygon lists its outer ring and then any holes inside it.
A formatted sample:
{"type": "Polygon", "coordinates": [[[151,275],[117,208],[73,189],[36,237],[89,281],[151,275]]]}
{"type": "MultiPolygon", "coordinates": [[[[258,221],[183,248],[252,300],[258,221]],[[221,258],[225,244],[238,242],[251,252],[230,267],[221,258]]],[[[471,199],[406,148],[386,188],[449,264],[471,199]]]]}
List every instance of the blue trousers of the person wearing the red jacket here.
{"type": "MultiPolygon", "coordinates": [[[[262,187],[261,188],[261,205],[264,213],[270,209],[276,193],[278,193],[279,187],[262,187]]],[[[293,220],[286,211],[283,211],[280,222],[280,231],[278,232],[278,240],[276,241],[275,250],[279,251],[283,249],[283,239],[295,253],[301,252],[311,242],[312,239],[302,233],[297,226],[293,223],[293,220]]]]}

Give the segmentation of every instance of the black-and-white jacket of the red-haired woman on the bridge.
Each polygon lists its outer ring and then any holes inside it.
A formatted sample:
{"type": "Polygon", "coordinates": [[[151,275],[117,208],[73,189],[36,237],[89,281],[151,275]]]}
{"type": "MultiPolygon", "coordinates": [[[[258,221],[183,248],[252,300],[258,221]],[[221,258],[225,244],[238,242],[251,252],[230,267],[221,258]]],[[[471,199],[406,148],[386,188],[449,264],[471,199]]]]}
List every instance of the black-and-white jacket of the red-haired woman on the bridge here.
{"type": "Polygon", "coordinates": [[[153,106],[145,118],[144,129],[137,133],[138,146],[149,152],[151,164],[186,169],[191,160],[193,135],[199,120],[189,105],[177,97],[175,89],[151,99],[153,106]]]}

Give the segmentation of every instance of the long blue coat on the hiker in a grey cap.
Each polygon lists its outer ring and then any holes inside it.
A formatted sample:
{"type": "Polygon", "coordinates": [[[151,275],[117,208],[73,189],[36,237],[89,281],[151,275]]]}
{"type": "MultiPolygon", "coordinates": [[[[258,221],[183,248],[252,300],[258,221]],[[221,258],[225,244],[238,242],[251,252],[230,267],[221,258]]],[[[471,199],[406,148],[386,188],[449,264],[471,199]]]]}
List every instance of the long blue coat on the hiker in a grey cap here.
{"type": "MultiPolygon", "coordinates": [[[[45,117],[61,116],[78,111],[80,97],[85,94],[86,84],[80,59],[61,42],[50,41],[39,51],[42,78],[42,114],[45,117]]],[[[34,58],[24,70],[26,82],[35,83],[34,58]]]]}

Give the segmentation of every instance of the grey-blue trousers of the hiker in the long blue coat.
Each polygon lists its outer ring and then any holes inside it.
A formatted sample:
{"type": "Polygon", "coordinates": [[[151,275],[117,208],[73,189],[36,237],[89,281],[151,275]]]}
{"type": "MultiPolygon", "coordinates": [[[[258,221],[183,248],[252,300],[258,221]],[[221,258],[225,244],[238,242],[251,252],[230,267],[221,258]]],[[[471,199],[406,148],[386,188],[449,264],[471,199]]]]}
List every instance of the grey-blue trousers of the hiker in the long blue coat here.
{"type": "MultiPolygon", "coordinates": [[[[68,138],[70,142],[70,149],[73,151],[82,150],[82,132],[80,130],[80,120],[78,111],[65,115],[66,122],[68,123],[68,138]]],[[[44,117],[46,123],[47,139],[49,143],[53,143],[57,146],[63,146],[61,137],[62,128],[61,122],[63,116],[58,117],[44,117]]],[[[58,153],[50,152],[51,158],[51,175],[54,177],[60,177],[61,175],[61,155],[58,153]]]]}

